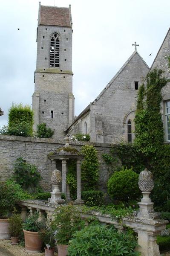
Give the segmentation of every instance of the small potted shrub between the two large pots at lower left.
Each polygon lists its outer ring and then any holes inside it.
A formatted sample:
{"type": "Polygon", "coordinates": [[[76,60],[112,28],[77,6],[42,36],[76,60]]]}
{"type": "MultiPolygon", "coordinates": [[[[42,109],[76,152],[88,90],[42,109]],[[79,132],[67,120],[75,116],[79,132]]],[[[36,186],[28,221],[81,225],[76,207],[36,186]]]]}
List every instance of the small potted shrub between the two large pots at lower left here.
{"type": "Polygon", "coordinates": [[[14,209],[12,217],[9,218],[9,231],[11,233],[11,244],[17,244],[23,229],[23,220],[17,210],[14,209]]]}

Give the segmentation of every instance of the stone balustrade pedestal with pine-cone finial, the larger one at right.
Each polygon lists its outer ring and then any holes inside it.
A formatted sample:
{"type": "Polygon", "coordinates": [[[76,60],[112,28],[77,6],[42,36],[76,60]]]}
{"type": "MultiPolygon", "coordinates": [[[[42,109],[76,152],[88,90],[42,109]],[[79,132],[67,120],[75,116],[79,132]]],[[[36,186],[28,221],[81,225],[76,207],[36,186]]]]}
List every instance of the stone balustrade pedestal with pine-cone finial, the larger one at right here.
{"type": "Polygon", "coordinates": [[[138,203],[139,211],[134,213],[134,218],[123,218],[123,222],[138,233],[138,251],[141,256],[160,256],[156,236],[166,228],[168,221],[159,219],[159,213],[154,212],[150,199],[150,192],[154,187],[152,173],[144,169],[139,175],[138,185],[143,194],[141,202],[138,203]]]}

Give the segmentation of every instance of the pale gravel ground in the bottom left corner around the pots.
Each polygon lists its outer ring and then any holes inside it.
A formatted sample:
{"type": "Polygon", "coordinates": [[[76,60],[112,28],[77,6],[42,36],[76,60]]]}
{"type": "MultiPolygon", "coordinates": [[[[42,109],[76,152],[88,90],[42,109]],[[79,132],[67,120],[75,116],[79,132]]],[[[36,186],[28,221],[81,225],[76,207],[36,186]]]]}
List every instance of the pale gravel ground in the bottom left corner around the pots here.
{"type": "Polygon", "coordinates": [[[11,240],[0,240],[0,256],[45,256],[45,253],[25,253],[23,249],[20,245],[12,245],[11,240]]]}

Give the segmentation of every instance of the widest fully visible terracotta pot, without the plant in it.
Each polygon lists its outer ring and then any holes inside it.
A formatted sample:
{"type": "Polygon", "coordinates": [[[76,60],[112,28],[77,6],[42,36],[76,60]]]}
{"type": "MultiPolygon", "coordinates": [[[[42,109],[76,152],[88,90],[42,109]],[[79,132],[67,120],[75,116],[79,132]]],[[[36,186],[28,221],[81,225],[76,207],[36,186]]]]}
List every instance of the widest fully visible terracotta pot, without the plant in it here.
{"type": "Polygon", "coordinates": [[[23,230],[25,239],[26,253],[40,253],[42,247],[42,240],[39,238],[38,232],[23,230]]]}

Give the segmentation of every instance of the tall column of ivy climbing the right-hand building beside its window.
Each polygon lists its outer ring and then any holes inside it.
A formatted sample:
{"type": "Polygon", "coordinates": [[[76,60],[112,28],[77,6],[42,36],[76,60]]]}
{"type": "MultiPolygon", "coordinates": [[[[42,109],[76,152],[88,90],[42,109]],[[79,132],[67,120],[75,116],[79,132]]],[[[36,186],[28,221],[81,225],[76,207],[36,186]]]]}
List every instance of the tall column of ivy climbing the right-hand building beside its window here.
{"type": "Polygon", "coordinates": [[[164,142],[164,130],[161,120],[161,89],[167,84],[162,70],[150,71],[147,85],[141,86],[135,114],[135,145],[145,155],[155,154],[164,142]]]}

